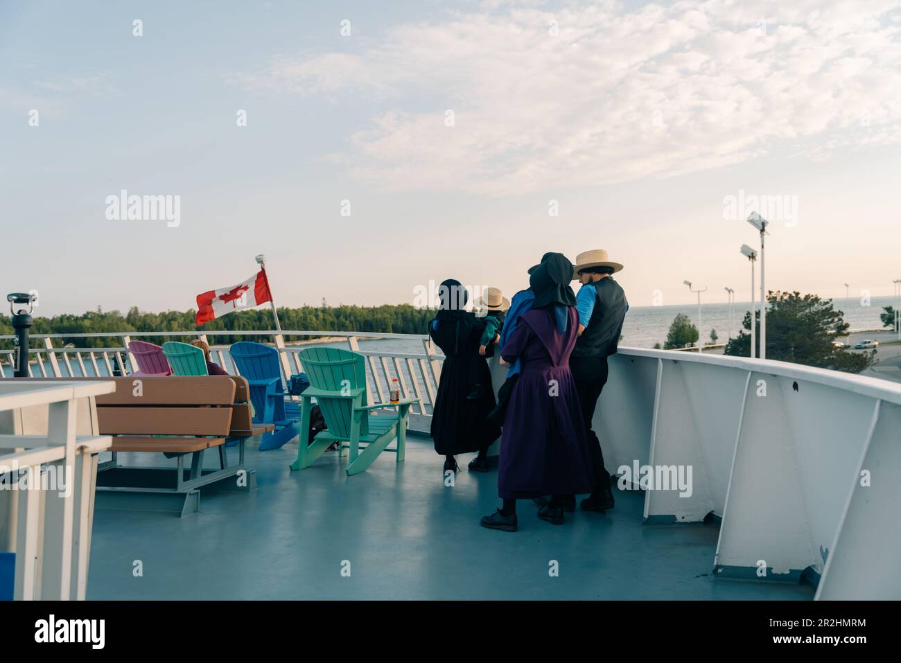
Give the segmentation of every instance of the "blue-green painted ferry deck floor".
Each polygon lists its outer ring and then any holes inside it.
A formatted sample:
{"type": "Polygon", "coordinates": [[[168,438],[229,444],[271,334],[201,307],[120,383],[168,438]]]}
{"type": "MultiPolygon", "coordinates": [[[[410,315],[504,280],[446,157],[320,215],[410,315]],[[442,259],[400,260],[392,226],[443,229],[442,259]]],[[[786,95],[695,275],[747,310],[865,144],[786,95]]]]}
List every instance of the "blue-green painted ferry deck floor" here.
{"type": "MultiPolygon", "coordinates": [[[[499,504],[496,471],[470,473],[469,455],[446,487],[426,438],[407,438],[405,462],[383,453],[354,477],[344,472],[346,451],[291,472],[296,450],[292,442],[260,452],[250,440],[246,465],[259,490],[202,492],[200,513],[185,518],[96,509],[87,598],[803,600],[815,592],[714,579],[718,527],[644,525],[639,491],[615,491],[614,510],[577,509],[560,526],[520,501],[519,531],[491,531],[479,518],[499,504]]],[[[159,466],[162,455],[121,454],[123,462],[159,466]]]]}

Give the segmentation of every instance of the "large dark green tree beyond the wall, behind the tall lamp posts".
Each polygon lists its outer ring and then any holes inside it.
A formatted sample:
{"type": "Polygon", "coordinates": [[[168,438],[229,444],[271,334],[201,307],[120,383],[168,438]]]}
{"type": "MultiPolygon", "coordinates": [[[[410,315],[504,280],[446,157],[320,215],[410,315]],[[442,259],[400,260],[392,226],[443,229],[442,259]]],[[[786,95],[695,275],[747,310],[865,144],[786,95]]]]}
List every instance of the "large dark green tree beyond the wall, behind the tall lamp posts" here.
{"type": "MultiPolygon", "coordinates": [[[[849,327],[844,313],[833,308],[833,300],[775,291],[767,295],[767,301],[767,359],[848,373],[860,373],[874,363],[875,350],[859,353],[833,345],[835,339],[847,334],[849,327]]],[[[757,356],[760,356],[760,311],[755,313],[757,356]]],[[[726,344],[725,354],[739,357],[751,354],[751,312],[744,314],[742,327],[739,335],[726,344]]]]}

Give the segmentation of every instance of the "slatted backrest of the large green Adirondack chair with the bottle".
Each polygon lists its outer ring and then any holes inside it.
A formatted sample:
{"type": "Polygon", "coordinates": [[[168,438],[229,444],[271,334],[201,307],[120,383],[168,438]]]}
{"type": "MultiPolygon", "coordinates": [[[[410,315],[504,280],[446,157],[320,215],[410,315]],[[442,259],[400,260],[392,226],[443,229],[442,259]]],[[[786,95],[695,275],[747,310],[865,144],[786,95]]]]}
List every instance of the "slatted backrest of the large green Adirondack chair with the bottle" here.
{"type": "MultiPolygon", "coordinates": [[[[350,437],[353,399],[342,395],[342,391],[346,393],[347,389],[363,387],[362,404],[368,404],[363,355],[341,348],[307,348],[300,351],[299,359],[310,385],[334,394],[332,397],[316,397],[329,432],[341,438],[350,437]]],[[[368,418],[364,417],[361,432],[367,432],[368,422],[368,418]]]]}

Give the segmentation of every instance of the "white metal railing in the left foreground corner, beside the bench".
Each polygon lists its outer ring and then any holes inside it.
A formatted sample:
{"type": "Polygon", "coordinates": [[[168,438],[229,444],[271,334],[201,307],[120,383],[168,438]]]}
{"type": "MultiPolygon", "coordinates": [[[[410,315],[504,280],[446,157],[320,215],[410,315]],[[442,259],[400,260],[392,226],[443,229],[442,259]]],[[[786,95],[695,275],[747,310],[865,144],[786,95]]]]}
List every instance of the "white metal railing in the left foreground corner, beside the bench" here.
{"type": "Polygon", "coordinates": [[[94,396],[111,381],[0,382],[0,549],[15,553],[14,598],[84,600],[97,454],[94,396]],[[37,423],[37,425],[36,425],[37,423]]]}

